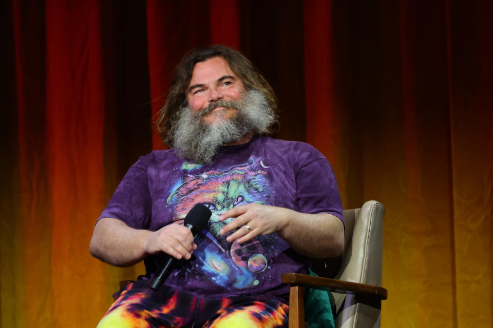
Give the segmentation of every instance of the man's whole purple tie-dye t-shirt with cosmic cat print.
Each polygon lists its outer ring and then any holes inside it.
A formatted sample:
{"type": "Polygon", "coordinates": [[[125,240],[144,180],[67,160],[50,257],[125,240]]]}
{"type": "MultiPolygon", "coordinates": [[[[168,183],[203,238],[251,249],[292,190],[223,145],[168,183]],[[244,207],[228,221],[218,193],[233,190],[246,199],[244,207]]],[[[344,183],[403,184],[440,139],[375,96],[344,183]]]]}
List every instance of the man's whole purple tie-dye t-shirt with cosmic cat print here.
{"type": "MultiPolygon", "coordinates": [[[[182,261],[165,284],[200,295],[270,295],[289,292],[280,275],[306,273],[309,259],[277,233],[239,244],[227,242],[219,215],[249,203],[301,213],[330,213],[343,220],[337,183],[328,160],[304,142],[254,136],[244,145],[222,147],[212,165],[180,159],[173,149],[142,156],[121,181],[100,218],[156,231],[182,222],[203,203],[212,217],[196,238],[190,261],[182,261]]],[[[228,221],[228,220],[226,220],[228,221]]],[[[151,257],[152,258],[152,257],[151,257]]],[[[145,261],[147,278],[157,261],[145,261]]]]}

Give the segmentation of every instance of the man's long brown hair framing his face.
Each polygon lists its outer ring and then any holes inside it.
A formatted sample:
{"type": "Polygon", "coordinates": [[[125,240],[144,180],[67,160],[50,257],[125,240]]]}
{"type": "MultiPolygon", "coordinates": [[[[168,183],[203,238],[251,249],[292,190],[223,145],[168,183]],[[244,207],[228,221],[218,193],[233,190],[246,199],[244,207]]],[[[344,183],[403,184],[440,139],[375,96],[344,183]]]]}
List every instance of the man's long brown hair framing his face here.
{"type": "Polygon", "coordinates": [[[192,79],[195,64],[213,57],[223,57],[236,76],[241,78],[247,90],[255,89],[260,91],[267,98],[269,106],[274,111],[277,109],[277,99],[272,87],[253,66],[251,61],[241,53],[224,46],[211,46],[192,50],[181,59],[180,64],[175,68],[166,103],[159,111],[154,125],[161,140],[169,147],[173,147],[172,132],[178,119],[178,113],[180,109],[187,105],[186,89],[192,79]]]}

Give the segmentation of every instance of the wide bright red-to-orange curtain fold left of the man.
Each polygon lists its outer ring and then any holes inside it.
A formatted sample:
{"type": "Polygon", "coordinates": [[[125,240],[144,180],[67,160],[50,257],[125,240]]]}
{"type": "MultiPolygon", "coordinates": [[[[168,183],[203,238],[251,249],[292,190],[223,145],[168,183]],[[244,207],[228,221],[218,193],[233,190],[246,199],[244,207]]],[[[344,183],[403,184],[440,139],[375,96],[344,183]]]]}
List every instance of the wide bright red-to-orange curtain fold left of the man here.
{"type": "Polygon", "coordinates": [[[105,205],[100,5],[94,0],[78,4],[50,0],[45,6],[44,159],[50,211],[44,223],[52,234],[48,275],[52,319],[53,326],[66,325],[73,318],[87,325],[87,313],[97,313],[105,304],[97,301],[99,297],[93,299],[92,291],[94,281],[104,277],[105,266],[88,255],[87,244],[98,208],[105,205]]]}

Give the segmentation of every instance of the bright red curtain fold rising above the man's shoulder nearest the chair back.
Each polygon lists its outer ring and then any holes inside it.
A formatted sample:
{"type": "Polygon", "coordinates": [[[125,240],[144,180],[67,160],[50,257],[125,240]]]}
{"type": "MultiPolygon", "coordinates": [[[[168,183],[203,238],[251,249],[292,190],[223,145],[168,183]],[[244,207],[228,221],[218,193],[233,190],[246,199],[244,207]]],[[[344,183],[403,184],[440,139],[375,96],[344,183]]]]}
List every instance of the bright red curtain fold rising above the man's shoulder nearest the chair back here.
{"type": "MultiPolygon", "coordinates": [[[[324,153],[339,179],[341,194],[345,180],[339,151],[342,149],[340,106],[334,80],[334,42],[329,1],[307,2],[304,6],[305,97],[307,142],[324,153]],[[333,124],[338,122],[338,124],[333,124]]],[[[343,197],[344,198],[344,197],[343,197]]]]}

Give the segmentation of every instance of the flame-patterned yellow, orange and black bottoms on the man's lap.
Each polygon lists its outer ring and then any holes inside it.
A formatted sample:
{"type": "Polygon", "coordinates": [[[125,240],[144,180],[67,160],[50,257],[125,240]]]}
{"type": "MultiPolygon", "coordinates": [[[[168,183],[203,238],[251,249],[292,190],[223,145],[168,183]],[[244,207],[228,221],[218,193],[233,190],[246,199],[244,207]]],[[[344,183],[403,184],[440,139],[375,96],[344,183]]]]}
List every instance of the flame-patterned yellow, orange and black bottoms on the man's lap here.
{"type": "Polygon", "coordinates": [[[207,298],[166,286],[153,292],[145,280],[128,284],[115,298],[98,328],[288,327],[289,306],[279,300],[207,298]]]}

